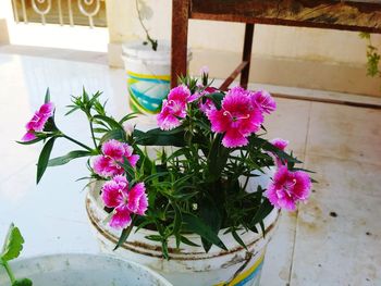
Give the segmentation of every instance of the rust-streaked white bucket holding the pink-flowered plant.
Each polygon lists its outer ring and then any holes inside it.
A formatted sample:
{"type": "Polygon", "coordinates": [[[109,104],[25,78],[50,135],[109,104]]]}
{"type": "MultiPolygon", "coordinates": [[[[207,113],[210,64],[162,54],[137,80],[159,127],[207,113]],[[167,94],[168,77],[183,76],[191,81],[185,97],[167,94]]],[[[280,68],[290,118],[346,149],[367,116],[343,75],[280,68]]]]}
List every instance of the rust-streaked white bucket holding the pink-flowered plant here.
{"type": "MultiPolygon", "coordinates": [[[[99,187],[88,192],[86,209],[89,220],[96,229],[96,236],[102,251],[119,254],[157,271],[174,285],[259,285],[266,247],[273,235],[279,211],[273,210],[265,219],[265,237],[253,232],[241,237],[248,250],[239,246],[231,234],[220,232],[220,238],[228,247],[224,251],[213,246],[208,253],[201,247],[182,244],[175,249],[175,239],[169,240],[170,260],[162,259],[160,243],[145,238],[157,233],[148,229],[132,231],[127,243],[113,251],[120,237],[120,231],[111,228],[106,220],[109,214],[103,210],[99,197],[99,187]]],[[[258,227],[259,228],[259,227],[258,227]]],[[[186,237],[201,245],[197,235],[186,237]]]]}

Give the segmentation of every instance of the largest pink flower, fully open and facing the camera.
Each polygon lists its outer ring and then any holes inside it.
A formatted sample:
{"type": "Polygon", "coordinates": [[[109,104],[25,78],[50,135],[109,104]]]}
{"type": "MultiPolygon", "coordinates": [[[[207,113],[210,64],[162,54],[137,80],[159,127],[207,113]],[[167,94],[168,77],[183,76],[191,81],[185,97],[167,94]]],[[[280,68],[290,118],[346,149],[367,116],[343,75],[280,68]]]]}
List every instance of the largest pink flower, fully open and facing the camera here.
{"type": "Polygon", "coordinates": [[[248,92],[241,87],[226,94],[221,110],[210,110],[207,115],[213,132],[225,133],[222,145],[228,148],[246,146],[246,137],[257,132],[263,122],[260,110],[251,105],[248,92]]]}

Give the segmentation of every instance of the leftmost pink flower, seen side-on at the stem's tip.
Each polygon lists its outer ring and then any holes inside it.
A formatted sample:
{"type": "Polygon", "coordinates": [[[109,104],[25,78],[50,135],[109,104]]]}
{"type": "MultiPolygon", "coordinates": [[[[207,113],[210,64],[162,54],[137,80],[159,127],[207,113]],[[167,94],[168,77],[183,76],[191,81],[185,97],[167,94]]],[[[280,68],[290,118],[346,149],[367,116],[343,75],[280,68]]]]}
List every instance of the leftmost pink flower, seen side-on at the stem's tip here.
{"type": "Polygon", "coordinates": [[[21,139],[22,141],[30,141],[37,138],[36,132],[42,132],[48,119],[54,113],[54,104],[47,102],[35,112],[32,120],[25,125],[26,134],[21,139]]]}

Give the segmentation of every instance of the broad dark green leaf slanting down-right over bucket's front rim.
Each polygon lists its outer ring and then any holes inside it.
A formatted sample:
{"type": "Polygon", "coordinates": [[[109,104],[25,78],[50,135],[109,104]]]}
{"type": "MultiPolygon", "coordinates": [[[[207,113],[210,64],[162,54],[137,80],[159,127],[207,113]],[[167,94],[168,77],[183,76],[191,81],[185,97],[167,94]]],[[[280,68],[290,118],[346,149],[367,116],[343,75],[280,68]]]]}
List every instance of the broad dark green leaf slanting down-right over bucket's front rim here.
{"type": "Polygon", "coordinates": [[[218,237],[217,234],[207,225],[205,224],[199,217],[190,214],[190,213],[183,213],[183,221],[186,223],[186,227],[199,236],[204,237],[208,241],[212,243],[213,245],[222,248],[223,250],[228,250],[225,245],[222,243],[222,240],[218,237]]]}

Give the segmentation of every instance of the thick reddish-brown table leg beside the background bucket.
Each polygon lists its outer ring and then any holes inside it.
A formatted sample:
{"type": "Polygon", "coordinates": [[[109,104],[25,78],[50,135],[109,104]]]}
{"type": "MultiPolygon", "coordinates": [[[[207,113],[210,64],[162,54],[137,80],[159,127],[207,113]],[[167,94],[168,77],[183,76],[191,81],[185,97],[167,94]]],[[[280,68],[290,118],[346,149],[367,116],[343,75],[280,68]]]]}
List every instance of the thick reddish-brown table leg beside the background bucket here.
{"type": "Polygon", "coordinates": [[[189,0],[172,1],[171,88],[186,75],[189,0]]]}

